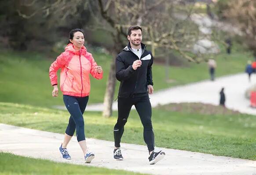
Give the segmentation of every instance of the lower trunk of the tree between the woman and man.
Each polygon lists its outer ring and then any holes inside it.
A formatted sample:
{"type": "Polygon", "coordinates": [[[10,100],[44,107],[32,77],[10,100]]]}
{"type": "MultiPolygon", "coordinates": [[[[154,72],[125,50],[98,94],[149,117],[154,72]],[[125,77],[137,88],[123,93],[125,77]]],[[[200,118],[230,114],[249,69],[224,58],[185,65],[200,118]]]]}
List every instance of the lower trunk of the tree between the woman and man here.
{"type": "Polygon", "coordinates": [[[112,115],[112,104],[113,104],[113,97],[115,93],[115,85],[116,85],[116,69],[115,69],[115,63],[116,63],[116,52],[112,52],[112,62],[110,65],[110,72],[108,81],[106,84],[106,92],[104,97],[104,110],[102,112],[103,117],[110,117],[112,115]]]}

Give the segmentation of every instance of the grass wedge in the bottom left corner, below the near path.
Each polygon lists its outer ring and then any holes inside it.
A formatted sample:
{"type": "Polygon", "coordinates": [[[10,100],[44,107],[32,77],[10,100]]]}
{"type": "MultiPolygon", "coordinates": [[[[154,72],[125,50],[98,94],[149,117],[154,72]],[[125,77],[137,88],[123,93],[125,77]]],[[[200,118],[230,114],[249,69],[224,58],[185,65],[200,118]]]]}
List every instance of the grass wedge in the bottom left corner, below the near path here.
{"type": "MultiPolygon", "coordinates": [[[[137,175],[139,173],[56,163],[0,152],[0,175],[137,175]]],[[[141,174],[139,174],[141,175],[141,174]]]]}

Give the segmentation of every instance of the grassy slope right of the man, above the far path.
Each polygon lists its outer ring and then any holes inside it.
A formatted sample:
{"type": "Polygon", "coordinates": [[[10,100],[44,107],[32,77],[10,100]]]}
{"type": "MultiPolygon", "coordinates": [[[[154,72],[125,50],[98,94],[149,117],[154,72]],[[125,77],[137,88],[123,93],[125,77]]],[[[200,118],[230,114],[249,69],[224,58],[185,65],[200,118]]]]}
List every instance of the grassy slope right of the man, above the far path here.
{"type": "MultiPolygon", "coordinates": [[[[247,60],[253,60],[251,52],[246,51],[241,45],[234,44],[232,54],[227,55],[223,45],[219,45],[221,52],[217,54],[216,59],[216,76],[223,76],[232,73],[244,72],[247,60]]],[[[169,78],[173,80],[168,84],[165,81],[165,69],[162,66],[154,65],[154,89],[169,88],[175,85],[187,84],[196,81],[209,79],[207,63],[188,63],[186,67],[170,66],[169,78]],[[156,77],[157,76],[157,77],[156,77]]]]}

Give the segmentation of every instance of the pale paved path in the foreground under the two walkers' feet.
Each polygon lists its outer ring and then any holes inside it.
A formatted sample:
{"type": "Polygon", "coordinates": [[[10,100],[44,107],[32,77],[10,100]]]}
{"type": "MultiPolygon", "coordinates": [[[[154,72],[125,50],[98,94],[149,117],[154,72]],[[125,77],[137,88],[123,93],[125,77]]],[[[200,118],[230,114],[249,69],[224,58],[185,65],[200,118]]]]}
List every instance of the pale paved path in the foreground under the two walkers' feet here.
{"type": "MultiPolygon", "coordinates": [[[[62,134],[0,123],[0,151],[85,165],[76,137],[73,137],[68,146],[72,160],[60,158],[59,146],[62,140],[62,134]]],[[[86,164],[88,166],[154,175],[256,175],[256,161],[163,149],[166,152],[165,158],[156,165],[149,165],[146,146],[122,144],[124,161],[115,161],[113,160],[113,142],[87,139],[87,143],[90,150],[95,152],[95,159],[91,164],[86,164]]]]}

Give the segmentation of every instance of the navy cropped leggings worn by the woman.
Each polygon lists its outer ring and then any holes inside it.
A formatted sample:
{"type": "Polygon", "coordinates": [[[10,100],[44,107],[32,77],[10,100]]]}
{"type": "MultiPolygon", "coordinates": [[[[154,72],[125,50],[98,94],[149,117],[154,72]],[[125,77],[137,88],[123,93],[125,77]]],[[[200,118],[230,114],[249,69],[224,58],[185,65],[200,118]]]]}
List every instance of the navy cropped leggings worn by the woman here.
{"type": "Polygon", "coordinates": [[[66,128],[66,134],[73,136],[75,130],[77,130],[77,141],[85,140],[84,135],[84,110],[86,108],[89,96],[86,97],[73,97],[69,95],[63,95],[63,101],[70,113],[69,124],[66,128]]]}

